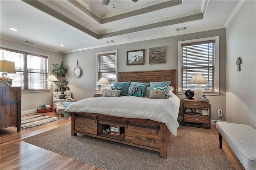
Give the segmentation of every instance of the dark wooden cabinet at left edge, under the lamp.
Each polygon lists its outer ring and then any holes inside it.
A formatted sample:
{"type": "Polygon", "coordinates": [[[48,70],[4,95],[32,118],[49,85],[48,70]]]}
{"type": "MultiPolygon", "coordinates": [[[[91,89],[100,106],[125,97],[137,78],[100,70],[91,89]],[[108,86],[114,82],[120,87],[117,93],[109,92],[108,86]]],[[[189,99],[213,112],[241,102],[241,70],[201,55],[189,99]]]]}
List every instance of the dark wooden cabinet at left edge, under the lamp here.
{"type": "Polygon", "coordinates": [[[0,128],[17,127],[21,122],[21,87],[0,87],[0,128]]]}

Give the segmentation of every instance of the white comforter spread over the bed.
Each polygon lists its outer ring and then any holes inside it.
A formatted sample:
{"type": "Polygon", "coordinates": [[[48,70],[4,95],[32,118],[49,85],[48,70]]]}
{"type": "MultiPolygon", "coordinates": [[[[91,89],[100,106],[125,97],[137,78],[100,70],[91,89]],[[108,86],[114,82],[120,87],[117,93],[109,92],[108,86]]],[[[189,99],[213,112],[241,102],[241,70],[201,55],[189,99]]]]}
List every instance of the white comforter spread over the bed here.
{"type": "Polygon", "coordinates": [[[180,99],[172,93],[169,99],[149,99],[146,97],[94,97],[82,99],[64,110],[66,119],[70,113],[100,113],[103,115],[136,119],[150,119],[165,123],[176,136],[180,99]]]}

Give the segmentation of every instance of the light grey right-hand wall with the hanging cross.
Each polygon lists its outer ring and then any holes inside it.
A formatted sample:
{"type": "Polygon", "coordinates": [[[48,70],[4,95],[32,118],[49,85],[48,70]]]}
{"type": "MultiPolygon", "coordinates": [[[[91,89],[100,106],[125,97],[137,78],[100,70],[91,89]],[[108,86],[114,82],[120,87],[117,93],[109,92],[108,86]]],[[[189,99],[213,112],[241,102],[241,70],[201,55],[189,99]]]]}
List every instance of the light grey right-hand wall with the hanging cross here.
{"type": "Polygon", "coordinates": [[[226,121],[256,128],[256,1],[245,1],[227,26],[226,45],[226,121]]]}

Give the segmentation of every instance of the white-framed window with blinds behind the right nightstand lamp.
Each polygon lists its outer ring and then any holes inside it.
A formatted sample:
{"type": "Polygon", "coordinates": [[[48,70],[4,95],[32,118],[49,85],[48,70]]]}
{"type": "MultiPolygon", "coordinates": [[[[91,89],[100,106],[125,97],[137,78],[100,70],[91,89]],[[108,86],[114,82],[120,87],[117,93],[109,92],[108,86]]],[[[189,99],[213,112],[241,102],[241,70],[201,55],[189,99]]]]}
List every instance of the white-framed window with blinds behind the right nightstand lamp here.
{"type": "Polygon", "coordinates": [[[208,85],[202,85],[204,93],[219,92],[218,37],[178,42],[178,48],[178,91],[184,92],[188,89],[194,89],[195,85],[189,85],[187,83],[193,77],[194,74],[200,73],[204,75],[206,80],[209,82],[208,85]]]}

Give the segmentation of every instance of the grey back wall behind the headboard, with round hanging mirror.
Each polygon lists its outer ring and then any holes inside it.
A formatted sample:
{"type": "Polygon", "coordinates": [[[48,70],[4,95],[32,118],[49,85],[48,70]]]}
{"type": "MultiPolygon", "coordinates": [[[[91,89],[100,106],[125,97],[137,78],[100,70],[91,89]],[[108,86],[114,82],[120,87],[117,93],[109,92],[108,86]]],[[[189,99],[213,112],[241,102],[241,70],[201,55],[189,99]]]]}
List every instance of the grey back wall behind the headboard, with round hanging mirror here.
{"type": "MultiPolygon", "coordinates": [[[[211,119],[218,119],[218,109],[226,110],[226,29],[211,30],[206,32],[198,32],[193,34],[185,34],[168,38],[160,38],[155,40],[147,40],[142,42],[128,43],[123,45],[114,45],[110,47],[102,47],[84,51],[66,53],[62,55],[62,59],[68,67],[68,87],[73,93],[76,101],[93,97],[95,93],[96,83],[96,52],[118,50],[118,72],[124,71],[147,71],[147,70],[166,70],[177,69],[178,82],[178,41],[192,40],[197,38],[205,38],[212,36],[220,36],[220,95],[207,96],[211,104],[211,119]],[[149,64],[149,48],[166,46],[166,63],[164,64],[149,64]],[[144,65],[126,65],[126,51],[145,49],[145,64],[144,65]],[[79,60],[79,65],[82,68],[83,74],[81,77],[75,78],[72,75],[73,69],[76,67],[76,61],[79,60]]],[[[178,86],[178,84],[177,84],[178,86]]],[[[184,95],[178,95],[180,99],[185,98],[184,95]]],[[[181,103],[182,106],[182,103],[181,103]]],[[[182,109],[180,109],[181,115],[182,109]]],[[[225,118],[225,112],[224,112],[225,118]]]]}

